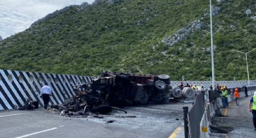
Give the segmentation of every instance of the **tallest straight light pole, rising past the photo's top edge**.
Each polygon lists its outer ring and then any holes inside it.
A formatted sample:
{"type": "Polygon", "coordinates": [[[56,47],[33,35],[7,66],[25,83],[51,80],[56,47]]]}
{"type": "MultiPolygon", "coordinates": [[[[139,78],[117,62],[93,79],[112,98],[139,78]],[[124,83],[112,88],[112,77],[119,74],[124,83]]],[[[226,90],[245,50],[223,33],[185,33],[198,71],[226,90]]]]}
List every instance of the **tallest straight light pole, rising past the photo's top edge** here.
{"type": "Polygon", "coordinates": [[[211,79],[213,81],[213,90],[215,89],[215,79],[214,79],[214,47],[213,47],[213,12],[211,9],[211,0],[210,0],[210,26],[211,26],[211,79]]]}

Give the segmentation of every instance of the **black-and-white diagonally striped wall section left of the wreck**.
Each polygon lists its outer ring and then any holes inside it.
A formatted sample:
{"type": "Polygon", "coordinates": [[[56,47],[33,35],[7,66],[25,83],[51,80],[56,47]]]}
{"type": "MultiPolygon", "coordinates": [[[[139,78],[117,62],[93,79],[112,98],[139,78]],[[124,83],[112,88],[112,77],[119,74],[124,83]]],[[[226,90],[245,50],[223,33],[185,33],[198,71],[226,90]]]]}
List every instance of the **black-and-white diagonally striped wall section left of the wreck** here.
{"type": "Polygon", "coordinates": [[[23,105],[26,99],[39,101],[39,106],[43,106],[39,96],[45,82],[52,89],[51,105],[63,103],[75,95],[73,85],[91,81],[92,77],[84,76],[0,70],[0,110],[14,109],[14,106],[23,105]]]}

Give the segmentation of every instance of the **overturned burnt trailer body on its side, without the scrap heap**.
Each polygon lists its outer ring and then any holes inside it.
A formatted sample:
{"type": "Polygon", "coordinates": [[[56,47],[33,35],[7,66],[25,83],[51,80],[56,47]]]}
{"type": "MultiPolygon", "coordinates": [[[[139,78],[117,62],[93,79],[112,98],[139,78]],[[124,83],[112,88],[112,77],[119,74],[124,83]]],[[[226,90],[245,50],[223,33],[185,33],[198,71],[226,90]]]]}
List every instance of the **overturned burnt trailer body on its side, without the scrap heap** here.
{"type": "Polygon", "coordinates": [[[91,85],[111,106],[167,103],[172,89],[170,76],[165,74],[157,76],[103,72],[91,85]]]}

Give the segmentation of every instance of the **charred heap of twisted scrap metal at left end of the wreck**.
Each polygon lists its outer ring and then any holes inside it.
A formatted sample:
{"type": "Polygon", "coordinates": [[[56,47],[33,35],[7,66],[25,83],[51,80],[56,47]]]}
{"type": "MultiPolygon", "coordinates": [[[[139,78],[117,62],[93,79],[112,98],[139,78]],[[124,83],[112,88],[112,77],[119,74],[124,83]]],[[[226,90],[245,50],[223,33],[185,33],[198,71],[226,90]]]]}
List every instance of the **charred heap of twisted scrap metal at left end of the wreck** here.
{"type": "MultiPolygon", "coordinates": [[[[93,116],[94,118],[103,118],[97,114],[110,113],[112,109],[102,97],[101,92],[92,89],[91,84],[75,85],[75,96],[69,100],[65,100],[63,104],[54,104],[51,106],[51,111],[59,112],[62,116],[93,116]]],[[[125,110],[123,112],[127,113],[125,110]]]]}

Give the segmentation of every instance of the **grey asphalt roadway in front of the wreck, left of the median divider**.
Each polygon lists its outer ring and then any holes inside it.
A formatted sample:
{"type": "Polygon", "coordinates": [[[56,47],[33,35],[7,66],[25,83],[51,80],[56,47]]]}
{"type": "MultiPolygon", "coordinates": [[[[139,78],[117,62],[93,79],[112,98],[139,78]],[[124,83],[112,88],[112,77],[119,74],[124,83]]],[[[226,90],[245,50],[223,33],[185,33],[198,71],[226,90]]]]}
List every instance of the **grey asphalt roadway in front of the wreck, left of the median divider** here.
{"type": "Polygon", "coordinates": [[[43,109],[1,111],[0,138],[169,137],[183,123],[183,106],[191,104],[125,107],[128,113],[114,110],[103,118],[66,117],[43,109]]]}

